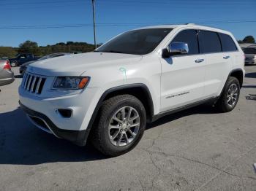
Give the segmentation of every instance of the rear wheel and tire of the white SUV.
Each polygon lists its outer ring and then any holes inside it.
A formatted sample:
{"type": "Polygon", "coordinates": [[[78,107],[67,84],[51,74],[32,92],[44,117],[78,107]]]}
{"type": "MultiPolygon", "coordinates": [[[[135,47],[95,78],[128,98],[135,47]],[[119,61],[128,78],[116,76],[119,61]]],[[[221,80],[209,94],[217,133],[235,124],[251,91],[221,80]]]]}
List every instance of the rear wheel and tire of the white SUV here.
{"type": "Polygon", "coordinates": [[[228,77],[224,90],[222,91],[222,95],[220,95],[216,104],[219,112],[232,111],[238,103],[239,95],[240,83],[238,79],[236,77],[228,77]]]}

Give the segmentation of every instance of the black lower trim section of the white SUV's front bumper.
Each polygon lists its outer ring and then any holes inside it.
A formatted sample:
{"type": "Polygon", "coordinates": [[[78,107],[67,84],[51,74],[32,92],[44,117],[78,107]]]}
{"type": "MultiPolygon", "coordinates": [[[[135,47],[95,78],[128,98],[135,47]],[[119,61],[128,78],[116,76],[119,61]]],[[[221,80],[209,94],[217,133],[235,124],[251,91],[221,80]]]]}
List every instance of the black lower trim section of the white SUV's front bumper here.
{"type": "Polygon", "coordinates": [[[20,107],[26,114],[28,114],[29,120],[34,123],[38,128],[53,133],[56,137],[72,141],[75,144],[83,146],[86,144],[86,138],[88,133],[86,130],[64,130],[58,128],[45,114],[36,112],[20,103],[20,107]]]}

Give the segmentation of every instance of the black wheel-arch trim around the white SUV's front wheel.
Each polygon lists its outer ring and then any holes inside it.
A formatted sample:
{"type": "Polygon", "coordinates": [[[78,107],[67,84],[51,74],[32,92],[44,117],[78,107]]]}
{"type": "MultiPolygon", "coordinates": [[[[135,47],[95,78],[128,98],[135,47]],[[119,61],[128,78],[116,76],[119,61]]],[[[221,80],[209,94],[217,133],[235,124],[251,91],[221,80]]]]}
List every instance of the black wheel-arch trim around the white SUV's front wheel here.
{"type": "Polygon", "coordinates": [[[136,83],[136,84],[130,84],[130,85],[121,85],[121,86],[118,86],[118,87],[112,87],[108,90],[106,90],[102,96],[99,98],[99,101],[97,103],[97,106],[95,107],[94,109],[94,112],[91,116],[91,120],[89,122],[89,125],[88,127],[86,128],[86,132],[84,133],[84,136],[82,138],[80,138],[80,140],[83,140],[83,142],[81,142],[79,145],[80,146],[84,146],[86,145],[86,141],[89,137],[89,133],[91,131],[91,128],[94,124],[94,120],[95,118],[97,117],[97,114],[99,112],[99,108],[100,106],[102,106],[102,102],[104,101],[104,99],[107,97],[107,95],[109,95],[110,93],[113,93],[113,92],[116,92],[116,91],[119,91],[119,90],[129,90],[130,88],[134,88],[134,87],[140,87],[143,89],[143,91],[145,91],[145,93],[148,95],[148,104],[149,104],[149,118],[148,120],[151,121],[152,120],[152,117],[154,116],[154,104],[153,104],[153,100],[152,100],[152,97],[151,97],[151,93],[150,91],[148,90],[148,87],[145,85],[145,84],[140,84],[140,83],[136,83]]]}

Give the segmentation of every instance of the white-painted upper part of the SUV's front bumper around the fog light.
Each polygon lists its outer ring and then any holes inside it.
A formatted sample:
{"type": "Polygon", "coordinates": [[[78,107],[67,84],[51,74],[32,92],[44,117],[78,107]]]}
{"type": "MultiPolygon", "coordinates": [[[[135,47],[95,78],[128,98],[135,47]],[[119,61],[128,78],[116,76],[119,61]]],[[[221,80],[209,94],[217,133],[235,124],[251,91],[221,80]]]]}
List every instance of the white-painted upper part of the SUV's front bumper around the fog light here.
{"type": "Polygon", "coordinates": [[[45,114],[57,127],[64,130],[85,130],[88,127],[97,101],[94,99],[97,98],[96,92],[97,88],[86,88],[83,93],[60,95],[64,92],[43,89],[42,93],[38,95],[19,87],[21,104],[45,114]],[[45,97],[46,95],[48,96],[45,97]],[[61,116],[59,109],[71,110],[72,116],[61,116]]]}

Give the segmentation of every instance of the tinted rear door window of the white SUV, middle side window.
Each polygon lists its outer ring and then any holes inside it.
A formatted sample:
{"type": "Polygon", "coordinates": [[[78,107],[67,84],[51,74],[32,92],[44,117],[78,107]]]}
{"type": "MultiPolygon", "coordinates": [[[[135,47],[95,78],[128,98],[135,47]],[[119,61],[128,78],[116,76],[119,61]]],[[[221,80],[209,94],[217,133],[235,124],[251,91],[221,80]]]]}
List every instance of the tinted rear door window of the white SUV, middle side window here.
{"type": "Polygon", "coordinates": [[[201,53],[222,52],[222,45],[216,32],[199,31],[198,39],[201,53]]]}

